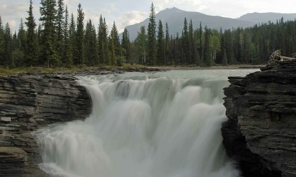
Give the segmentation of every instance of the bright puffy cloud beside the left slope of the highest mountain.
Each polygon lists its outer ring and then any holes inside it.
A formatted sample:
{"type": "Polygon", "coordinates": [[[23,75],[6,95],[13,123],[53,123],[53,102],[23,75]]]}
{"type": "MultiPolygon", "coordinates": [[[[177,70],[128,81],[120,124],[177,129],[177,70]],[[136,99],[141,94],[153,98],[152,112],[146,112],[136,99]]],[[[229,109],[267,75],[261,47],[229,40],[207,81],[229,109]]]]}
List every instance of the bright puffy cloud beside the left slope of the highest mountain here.
{"type": "Polygon", "coordinates": [[[124,27],[128,25],[142,22],[148,16],[149,16],[149,12],[139,12],[139,11],[126,12],[120,15],[120,17],[118,17],[117,19],[117,22],[120,22],[118,23],[118,32],[123,32],[124,27]]]}

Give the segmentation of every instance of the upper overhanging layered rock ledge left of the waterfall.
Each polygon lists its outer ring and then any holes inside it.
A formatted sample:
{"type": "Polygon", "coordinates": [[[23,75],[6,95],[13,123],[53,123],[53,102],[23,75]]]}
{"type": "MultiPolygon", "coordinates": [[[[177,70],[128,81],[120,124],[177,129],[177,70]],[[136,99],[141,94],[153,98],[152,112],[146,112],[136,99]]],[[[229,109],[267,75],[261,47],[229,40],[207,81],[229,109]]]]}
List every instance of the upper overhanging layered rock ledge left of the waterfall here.
{"type": "Polygon", "coordinates": [[[57,122],[85,118],[89,96],[74,77],[0,76],[0,116],[17,122],[57,122]]]}

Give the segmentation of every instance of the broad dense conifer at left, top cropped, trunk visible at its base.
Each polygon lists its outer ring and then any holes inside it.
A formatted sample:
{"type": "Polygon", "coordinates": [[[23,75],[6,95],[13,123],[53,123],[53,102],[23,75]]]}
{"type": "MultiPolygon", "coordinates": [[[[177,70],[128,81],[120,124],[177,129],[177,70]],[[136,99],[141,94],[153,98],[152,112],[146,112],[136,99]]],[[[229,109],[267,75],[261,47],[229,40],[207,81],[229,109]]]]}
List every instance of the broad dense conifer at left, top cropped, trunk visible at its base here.
{"type": "Polygon", "coordinates": [[[55,17],[56,17],[56,1],[55,0],[41,0],[40,2],[40,21],[44,26],[42,32],[41,55],[43,62],[46,63],[47,68],[52,64],[59,63],[58,55],[55,49],[55,17]]]}

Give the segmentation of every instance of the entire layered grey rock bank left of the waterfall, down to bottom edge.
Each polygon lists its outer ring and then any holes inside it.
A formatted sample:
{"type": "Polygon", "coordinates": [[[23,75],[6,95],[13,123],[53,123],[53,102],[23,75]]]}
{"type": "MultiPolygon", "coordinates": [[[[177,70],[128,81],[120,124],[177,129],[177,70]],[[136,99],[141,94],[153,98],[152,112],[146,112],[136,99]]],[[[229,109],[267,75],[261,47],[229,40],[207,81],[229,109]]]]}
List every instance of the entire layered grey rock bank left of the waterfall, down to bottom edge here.
{"type": "Polygon", "coordinates": [[[48,176],[31,134],[37,124],[85,119],[86,89],[70,76],[0,76],[0,176],[48,176]]]}

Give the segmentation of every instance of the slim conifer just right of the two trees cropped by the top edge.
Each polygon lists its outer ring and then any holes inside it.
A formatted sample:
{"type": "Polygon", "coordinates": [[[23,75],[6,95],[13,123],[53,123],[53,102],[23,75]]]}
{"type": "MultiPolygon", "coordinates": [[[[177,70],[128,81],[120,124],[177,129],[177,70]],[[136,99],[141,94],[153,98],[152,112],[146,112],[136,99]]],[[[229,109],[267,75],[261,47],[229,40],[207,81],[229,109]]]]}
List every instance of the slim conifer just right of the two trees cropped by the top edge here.
{"type": "MultiPolygon", "coordinates": [[[[68,24],[69,12],[68,12],[67,6],[66,6],[65,12],[66,12],[65,13],[65,26],[64,26],[64,46],[65,46],[65,48],[64,48],[63,63],[65,64],[66,68],[69,68],[73,64],[73,53],[72,53],[73,49],[72,49],[72,44],[70,41],[70,31],[69,31],[69,27],[68,27],[69,26],[69,24],[68,24]]],[[[73,17],[73,14],[72,14],[72,17],[73,17]]],[[[74,19],[73,19],[73,21],[74,21],[74,19]]],[[[75,31],[75,27],[74,27],[73,31],[75,31]]]]}

